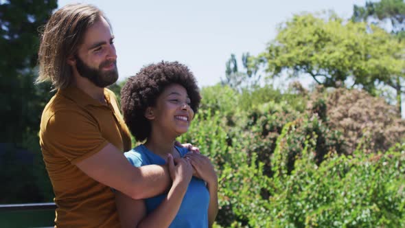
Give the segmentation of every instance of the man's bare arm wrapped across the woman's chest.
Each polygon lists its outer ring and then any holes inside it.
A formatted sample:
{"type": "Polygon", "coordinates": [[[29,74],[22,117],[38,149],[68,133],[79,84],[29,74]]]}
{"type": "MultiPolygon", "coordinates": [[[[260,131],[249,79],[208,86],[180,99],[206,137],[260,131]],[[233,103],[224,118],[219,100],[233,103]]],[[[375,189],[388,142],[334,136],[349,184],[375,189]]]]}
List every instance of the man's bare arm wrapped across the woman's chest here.
{"type": "Polygon", "coordinates": [[[100,152],[79,161],[76,166],[96,181],[134,199],[162,194],[171,185],[167,166],[134,167],[113,144],[107,144],[100,152]]]}

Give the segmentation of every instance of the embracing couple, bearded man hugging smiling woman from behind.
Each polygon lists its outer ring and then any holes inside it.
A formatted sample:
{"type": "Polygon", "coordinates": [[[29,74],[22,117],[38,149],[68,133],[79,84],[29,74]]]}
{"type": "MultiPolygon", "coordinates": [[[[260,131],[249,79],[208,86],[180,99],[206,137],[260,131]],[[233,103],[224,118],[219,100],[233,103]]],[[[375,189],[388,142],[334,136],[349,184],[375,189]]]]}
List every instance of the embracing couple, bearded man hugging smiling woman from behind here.
{"type": "Polygon", "coordinates": [[[54,12],[38,58],[37,82],[57,90],[40,122],[55,227],[212,226],[216,172],[197,148],[176,143],[200,103],[185,65],[159,62],[129,78],[122,117],[106,89],[118,78],[111,25],[86,4],[54,12]],[[132,148],[130,133],[142,144],[132,148]]]}

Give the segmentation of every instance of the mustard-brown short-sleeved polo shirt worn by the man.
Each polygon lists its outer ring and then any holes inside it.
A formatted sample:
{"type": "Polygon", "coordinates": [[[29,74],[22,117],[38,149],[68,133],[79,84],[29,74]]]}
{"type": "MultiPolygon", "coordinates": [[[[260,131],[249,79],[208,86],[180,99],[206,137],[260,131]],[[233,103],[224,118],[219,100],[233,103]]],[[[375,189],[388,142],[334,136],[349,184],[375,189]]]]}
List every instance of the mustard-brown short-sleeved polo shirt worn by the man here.
{"type": "Polygon", "coordinates": [[[129,130],[112,91],[102,104],[76,87],[60,89],[40,121],[40,146],[54,187],[55,227],[120,227],[110,187],[75,165],[108,143],[130,150],[129,130]]]}

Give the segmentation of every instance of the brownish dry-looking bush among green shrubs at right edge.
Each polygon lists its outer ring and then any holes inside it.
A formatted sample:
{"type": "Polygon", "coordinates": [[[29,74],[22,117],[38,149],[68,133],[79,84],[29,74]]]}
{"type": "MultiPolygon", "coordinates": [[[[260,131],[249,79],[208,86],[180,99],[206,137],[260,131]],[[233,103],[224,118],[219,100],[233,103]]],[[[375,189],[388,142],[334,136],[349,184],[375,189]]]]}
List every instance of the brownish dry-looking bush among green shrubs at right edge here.
{"type": "Polygon", "coordinates": [[[362,152],[386,151],[404,139],[405,119],[382,98],[357,89],[336,89],[327,92],[325,106],[329,126],[343,133],[342,146],[349,153],[358,148],[362,152]]]}

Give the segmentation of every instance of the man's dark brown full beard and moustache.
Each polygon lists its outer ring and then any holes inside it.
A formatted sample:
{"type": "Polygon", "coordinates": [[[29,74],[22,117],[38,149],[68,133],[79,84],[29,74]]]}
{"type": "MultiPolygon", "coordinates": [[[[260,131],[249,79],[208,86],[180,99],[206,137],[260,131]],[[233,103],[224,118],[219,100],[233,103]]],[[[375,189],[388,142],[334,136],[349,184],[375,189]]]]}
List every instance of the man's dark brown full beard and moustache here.
{"type": "Polygon", "coordinates": [[[78,69],[80,76],[89,79],[93,84],[100,88],[108,87],[118,80],[117,62],[115,60],[106,60],[100,64],[98,69],[96,69],[89,67],[89,65],[86,65],[79,56],[76,56],[76,69],[78,69]],[[115,65],[115,68],[103,72],[102,67],[109,66],[111,63],[115,65]]]}

